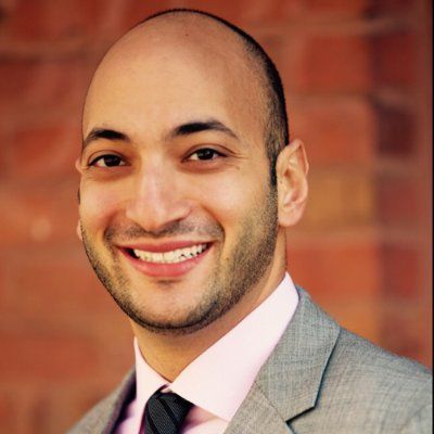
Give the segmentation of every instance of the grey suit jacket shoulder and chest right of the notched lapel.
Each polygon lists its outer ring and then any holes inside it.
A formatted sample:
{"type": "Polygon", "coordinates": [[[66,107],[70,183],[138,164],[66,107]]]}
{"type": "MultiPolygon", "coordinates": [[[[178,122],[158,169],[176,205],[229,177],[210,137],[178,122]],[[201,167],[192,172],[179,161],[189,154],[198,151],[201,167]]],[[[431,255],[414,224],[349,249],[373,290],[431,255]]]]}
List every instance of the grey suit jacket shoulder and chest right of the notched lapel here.
{"type": "Polygon", "coordinates": [[[341,329],[315,410],[292,425],[301,433],[427,433],[431,407],[427,368],[341,329]]]}

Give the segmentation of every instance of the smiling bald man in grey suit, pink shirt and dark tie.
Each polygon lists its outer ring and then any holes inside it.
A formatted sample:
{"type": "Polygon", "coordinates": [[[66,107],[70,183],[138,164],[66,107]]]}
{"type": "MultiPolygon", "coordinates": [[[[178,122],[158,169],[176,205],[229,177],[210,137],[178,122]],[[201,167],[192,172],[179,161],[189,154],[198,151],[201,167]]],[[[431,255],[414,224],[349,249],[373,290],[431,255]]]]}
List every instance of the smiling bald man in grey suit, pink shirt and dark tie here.
{"type": "Polygon", "coordinates": [[[78,233],[130,319],[136,370],[73,433],[427,433],[431,378],[285,275],[308,164],[279,75],[217,17],[148,18],[84,111],[78,233]]]}

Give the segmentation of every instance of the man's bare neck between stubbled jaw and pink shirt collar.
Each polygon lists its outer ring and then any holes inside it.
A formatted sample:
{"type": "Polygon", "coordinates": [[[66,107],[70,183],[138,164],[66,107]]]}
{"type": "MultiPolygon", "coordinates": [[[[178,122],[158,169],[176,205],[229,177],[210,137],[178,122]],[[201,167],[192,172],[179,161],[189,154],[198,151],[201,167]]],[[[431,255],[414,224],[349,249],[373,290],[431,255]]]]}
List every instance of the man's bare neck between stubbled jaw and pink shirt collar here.
{"type": "Polygon", "coordinates": [[[278,237],[275,259],[260,281],[224,316],[190,334],[163,334],[131,322],[146,363],[173,382],[196,357],[209,348],[259,306],[279,285],[285,272],[284,238],[278,237]]]}

